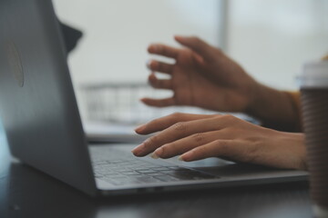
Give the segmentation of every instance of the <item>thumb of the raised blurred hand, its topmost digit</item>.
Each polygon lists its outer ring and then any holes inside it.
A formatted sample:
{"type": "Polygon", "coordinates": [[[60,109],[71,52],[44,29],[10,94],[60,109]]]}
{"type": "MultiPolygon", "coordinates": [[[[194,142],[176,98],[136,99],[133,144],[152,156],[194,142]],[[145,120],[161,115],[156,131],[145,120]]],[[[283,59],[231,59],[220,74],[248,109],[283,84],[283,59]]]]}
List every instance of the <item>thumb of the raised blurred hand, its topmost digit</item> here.
{"type": "Polygon", "coordinates": [[[202,41],[198,37],[184,37],[176,35],[175,40],[186,47],[189,47],[192,51],[197,54],[200,54],[205,60],[212,60],[213,59],[213,47],[202,41]]]}

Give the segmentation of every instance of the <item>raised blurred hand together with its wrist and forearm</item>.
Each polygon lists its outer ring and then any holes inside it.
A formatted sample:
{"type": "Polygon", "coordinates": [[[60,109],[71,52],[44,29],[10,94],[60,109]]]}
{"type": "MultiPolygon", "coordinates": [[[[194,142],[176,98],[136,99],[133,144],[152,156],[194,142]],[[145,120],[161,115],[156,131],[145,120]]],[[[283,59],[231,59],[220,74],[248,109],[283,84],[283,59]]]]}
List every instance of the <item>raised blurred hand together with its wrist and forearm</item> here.
{"type": "Polygon", "coordinates": [[[149,54],[173,58],[174,64],[157,60],[149,62],[149,84],[169,89],[166,99],[143,98],[144,104],[156,107],[191,105],[219,112],[250,114],[268,126],[292,131],[298,123],[291,98],[254,80],[240,64],[197,37],[175,36],[182,48],[149,45],[149,54]],[[169,74],[159,79],[156,74],[169,74]],[[274,104],[272,104],[274,101],[274,104]]]}

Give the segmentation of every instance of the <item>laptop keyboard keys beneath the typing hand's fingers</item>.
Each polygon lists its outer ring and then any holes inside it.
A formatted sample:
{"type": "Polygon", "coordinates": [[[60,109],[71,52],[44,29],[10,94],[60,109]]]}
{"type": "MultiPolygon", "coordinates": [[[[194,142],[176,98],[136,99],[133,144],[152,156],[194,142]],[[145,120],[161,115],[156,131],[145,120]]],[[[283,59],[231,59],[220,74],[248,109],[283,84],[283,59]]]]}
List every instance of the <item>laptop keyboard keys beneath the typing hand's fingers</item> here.
{"type": "MultiPolygon", "coordinates": [[[[120,152],[120,151],[119,151],[120,152]]],[[[120,155],[119,155],[120,156],[120,155]]],[[[216,179],[217,176],[201,173],[176,165],[149,163],[139,158],[128,156],[110,160],[92,162],[95,177],[114,185],[163,183],[216,179]]]]}

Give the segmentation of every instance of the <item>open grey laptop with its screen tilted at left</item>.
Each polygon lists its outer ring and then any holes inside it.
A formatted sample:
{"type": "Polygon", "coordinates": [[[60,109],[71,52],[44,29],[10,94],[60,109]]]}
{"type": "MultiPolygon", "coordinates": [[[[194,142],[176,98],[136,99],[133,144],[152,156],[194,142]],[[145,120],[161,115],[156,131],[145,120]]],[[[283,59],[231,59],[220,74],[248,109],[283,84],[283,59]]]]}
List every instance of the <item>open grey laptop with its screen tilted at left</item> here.
{"type": "Polygon", "coordinates": [[[209,158],[182,163],[87,144],[50,0],[0,1],[0,112],[11,154],[89,195],[305,181],[307,173],[209,158]]]}

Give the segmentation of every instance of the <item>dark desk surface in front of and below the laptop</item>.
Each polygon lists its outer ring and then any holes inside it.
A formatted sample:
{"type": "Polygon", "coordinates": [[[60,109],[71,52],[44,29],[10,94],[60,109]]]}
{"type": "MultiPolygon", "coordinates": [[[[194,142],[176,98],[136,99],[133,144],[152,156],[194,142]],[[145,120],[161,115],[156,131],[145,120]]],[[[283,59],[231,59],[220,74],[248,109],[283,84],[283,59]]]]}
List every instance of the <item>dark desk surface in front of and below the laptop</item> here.
{"type": "Polygon", "coordinates": [[[92,199],[22,163],[0,144],[0,217],[312,217],[306,183],[92,199]]]}

